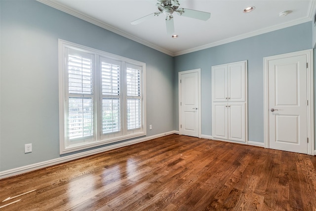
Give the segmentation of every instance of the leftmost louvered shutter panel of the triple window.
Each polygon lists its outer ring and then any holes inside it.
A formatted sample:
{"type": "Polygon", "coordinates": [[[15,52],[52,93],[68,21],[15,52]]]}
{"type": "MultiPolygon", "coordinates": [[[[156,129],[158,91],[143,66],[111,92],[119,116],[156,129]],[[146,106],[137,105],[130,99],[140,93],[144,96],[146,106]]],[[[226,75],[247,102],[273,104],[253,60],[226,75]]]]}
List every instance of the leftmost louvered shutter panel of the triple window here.
{"type": "Polygon", "coordinates": [[[68,137],[93,136],[93,55],[68,51],[68,137]]]}

